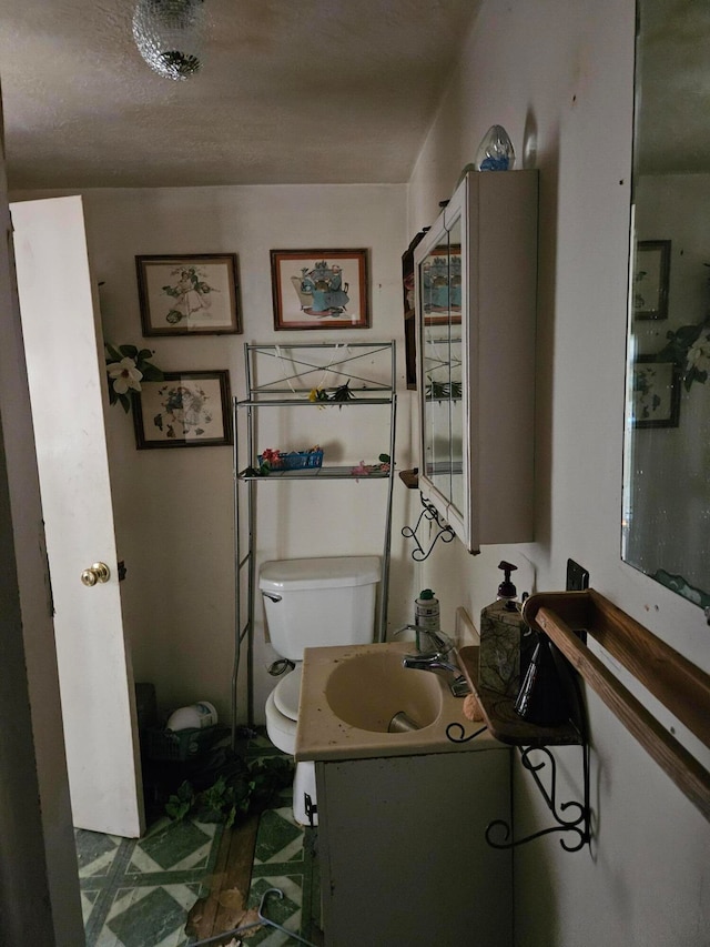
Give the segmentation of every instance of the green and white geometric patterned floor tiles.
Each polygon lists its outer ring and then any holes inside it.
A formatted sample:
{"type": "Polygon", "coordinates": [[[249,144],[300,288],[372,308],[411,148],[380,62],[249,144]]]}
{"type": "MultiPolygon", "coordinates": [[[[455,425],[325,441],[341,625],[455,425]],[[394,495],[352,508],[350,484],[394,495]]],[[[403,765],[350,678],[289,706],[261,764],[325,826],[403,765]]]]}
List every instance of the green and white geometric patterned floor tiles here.
{"type": "MultiPolygon", "coordinates": [[[[265,737],[251,741],[247,757],[273,754],[265,737]]],[[[153,826],[142,839],[78,829],[77,853],[87,947],[187,947],[187,914],[209,883],[222,826],[191,820],[153,826]]],[[[271,896],[265,915],[320,943],[315,829],[293,818],[291,790],[262,813],[256,835],[248,907],[271,896]]],[[[273,927],[248,931],[247,944],[281,947],[296,941],[273,927]]]]}

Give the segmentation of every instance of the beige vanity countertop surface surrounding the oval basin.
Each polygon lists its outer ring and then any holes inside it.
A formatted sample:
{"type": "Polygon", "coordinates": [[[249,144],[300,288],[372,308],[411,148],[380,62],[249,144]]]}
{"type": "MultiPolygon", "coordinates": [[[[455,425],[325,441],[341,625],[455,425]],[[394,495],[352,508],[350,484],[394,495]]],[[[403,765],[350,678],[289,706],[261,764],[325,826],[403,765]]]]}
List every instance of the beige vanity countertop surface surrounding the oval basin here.
{"type": "MultiPolygon", "coordinates": [[[[452,742],[446,731],[450,724],[452,735],[460,741],[485,726],[480,722],[466,719],[463,714],[464,698],[454,697],[449,691],[447,677],[430,672],[407,668],[400,673],[409,675],[415,685],[420,682],[423,691],[428,692],[428,701],[440,699],[440,709],[428,726],[404,733],[387,733],[376,729],[361,729],[341,719],[331,708],[327,697],[331,675],[353,658],[365,662],[377,661],[383,656],[389,667],[400,666],[400,657],[413,651],[412,642],[388,642],[385,644],[343,645],[338,647],[307,648],[303,662],[301,702],[298,707],[298,729],[296,734],[296,760],[336,760],[362,759],[367,757],[418,756],[436,753],[460,753],[462,750],[481,750],[501,747],[501,744],[488,731],[484,731],[468,743],[452,742]],[[424,679],[426,678],[426,679],[424,679]],[[440,692],[440,698],[436,692],[440,692]]],[[[362,665],[363,667],[365,664],[362,665]]],[[[373,666],[372,664],[368,666],[373,666]]],[[[339,672],[338,672],[339,673],[339,672]]],[[[398,672],[395,672],[398,673],[398,672]]],[[[363,707],[377,699],[377,694],[386,693],[386,679],[378,675],[357,678],[357,701],[363,707]],[[378,678],[378,679],[376,679],[378,678]],[[371,693],[368,694],[368,688],[371,693]]],[[[398,709],[393,704],[393,713],[398,709]]]]}

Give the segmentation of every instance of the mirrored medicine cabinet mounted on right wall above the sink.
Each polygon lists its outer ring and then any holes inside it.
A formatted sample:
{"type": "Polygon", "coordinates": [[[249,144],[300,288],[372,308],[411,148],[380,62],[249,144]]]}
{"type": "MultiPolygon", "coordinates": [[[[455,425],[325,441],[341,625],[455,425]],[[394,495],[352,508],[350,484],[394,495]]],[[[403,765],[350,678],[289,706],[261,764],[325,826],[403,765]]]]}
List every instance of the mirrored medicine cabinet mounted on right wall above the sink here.
{"type": "Polygon", "coordinates": [[[537,179],[467,172],[414,252],[418,485],[471,553],[534,537],[537,179]]]}

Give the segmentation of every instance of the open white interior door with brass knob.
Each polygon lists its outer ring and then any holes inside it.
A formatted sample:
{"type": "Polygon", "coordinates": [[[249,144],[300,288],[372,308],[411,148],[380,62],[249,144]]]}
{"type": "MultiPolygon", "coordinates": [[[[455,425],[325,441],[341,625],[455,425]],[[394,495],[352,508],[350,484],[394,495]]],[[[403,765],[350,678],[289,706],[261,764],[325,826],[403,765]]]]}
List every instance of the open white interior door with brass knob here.
{"type": "Polygon", "coordinates": [[[11,204],[74,826],[141,835],[143,799],[81,198],[11,204]],[[84,585],[105,563],[109,578],[84,585]]]}

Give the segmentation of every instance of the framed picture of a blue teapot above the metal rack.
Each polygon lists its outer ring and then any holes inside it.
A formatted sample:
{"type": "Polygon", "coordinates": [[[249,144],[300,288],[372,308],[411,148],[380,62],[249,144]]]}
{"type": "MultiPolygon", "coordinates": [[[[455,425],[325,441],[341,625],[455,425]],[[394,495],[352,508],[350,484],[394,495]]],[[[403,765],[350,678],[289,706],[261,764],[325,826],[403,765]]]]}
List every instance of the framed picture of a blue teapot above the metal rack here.
{"type": "Polygon", "coordinates": [[[366,250],[272,250],[274,329],[367,329],[366,250]]]}

